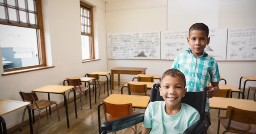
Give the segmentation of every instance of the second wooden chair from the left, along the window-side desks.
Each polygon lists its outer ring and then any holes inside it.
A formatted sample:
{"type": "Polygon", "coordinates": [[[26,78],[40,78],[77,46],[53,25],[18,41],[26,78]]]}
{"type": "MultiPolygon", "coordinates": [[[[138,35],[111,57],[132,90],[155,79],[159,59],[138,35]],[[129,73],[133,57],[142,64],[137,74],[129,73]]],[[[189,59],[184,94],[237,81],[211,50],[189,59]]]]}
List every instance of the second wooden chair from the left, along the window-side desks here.
{"type": "MultiPolygon", "coordinates": [[[[67,78],[67,84],[70,86],[74,86],[74,90],[75,90],[75,92],[79,92],[79,95],[80,95],[80,102],[81,102],[81,110],[83,109],[83,100],[84,100],[84,94],[83,94],[83,91],[86,91],[87,89],[89,89],[89,88],[87,88],[87,87],[81,87],[81,85],[82,85],[82,82],[81,82],[81,79],[80,78],[78,78],[78,79],[69,79],[69,78],[67,78]],[[81,95],[82,95],[82,97],[81,97],[81,95]]],[[[70,92],[74,92],[73,91],[73,89],[70,89],[70,92]]],[[[68,105],[68,103],[69,103],[69,94],[70,94],[70,92],[68,92],[68,96],[67,96],[67,105],[68,105]]],[[[87,98],[87,94],[86,94],[86,92],[85,92],[85,97],[87,98]]]]}

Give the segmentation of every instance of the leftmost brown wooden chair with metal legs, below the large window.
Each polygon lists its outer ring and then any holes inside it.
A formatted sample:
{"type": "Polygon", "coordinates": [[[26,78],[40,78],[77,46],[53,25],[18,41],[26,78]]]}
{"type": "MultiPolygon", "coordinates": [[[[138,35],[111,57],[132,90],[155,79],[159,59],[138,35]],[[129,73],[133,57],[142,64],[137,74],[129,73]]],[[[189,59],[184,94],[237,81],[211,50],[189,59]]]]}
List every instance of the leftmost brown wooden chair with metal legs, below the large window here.
{"type": "MultiPolygon", "coordinates": [[[[41,110],[42,109],[46,109],[46,115],[47,115],[47,118],[48,118],[47,107],[51,106],[52,104],[55,104],[56,105],[56,109],[57,109],[57,113],[58,113],[58,119],[59,119],[59,121],[61,121],[60,116],[59,116],[59,112],[58,112],[58,104],[57,104],[56,101],[52,101],[52,100],[38,100],[38,97],[35,94],[35,92],[21,92],[20,91],[19,93],[20,93],[20,97],[22,98],[23,101],[30,101],[30,102],[32,102],[32,104],[29,105],[32,110],[37,110],[39,112],[38,127],[37,127],[37,130],[36,130],[37,134],[38,134],[38,130],[39,130],[39,124],[40,124],[41,110]]],[[[22,130],[26,109],[27,108],[25,108],[24,111],[23,111],[20,131],[22,130]]]]}

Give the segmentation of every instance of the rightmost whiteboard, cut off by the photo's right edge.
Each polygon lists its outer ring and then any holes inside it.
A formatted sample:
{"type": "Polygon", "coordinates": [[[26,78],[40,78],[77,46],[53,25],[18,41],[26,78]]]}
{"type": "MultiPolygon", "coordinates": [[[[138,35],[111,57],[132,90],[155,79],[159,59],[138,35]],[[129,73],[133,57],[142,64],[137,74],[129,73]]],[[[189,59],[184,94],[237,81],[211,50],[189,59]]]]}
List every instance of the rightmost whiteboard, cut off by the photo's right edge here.
{"type": "Polygon", "coordinates": [[[256,28],[228,29],[227,60],[256,60],[256,28]]]}

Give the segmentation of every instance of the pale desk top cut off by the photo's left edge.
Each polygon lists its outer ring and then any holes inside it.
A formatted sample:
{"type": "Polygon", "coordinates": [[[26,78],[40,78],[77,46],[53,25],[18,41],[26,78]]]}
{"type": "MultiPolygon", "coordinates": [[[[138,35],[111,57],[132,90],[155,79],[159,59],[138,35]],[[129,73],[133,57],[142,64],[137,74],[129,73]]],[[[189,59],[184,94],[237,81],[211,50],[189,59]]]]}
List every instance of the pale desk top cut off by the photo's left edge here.
{"type": "Polygon", "coordinates": [[[29,102],[0,99],[0,116],[28,106],[29,104],[29,102]]]}

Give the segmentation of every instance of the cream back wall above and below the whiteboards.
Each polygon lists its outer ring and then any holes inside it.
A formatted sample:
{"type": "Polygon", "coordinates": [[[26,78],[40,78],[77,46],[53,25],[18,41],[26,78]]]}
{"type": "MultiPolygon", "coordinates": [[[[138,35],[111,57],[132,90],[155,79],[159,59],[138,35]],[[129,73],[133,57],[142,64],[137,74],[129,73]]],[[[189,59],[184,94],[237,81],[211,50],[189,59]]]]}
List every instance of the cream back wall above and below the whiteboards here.
{"type": "MultiPolygon", "coordinates": [[[[256,0],[220,0],[219,28],[256,27],[255,7],[256,0]]],[[[172,10],[172,8],[168,10],[172,10]]],[[[193,14],[193,11],[190,12],[192,16],[204,17],[193,14]]],[[[179,12],[173,11],[173,14],[175,15],[172,15],[172,20],[175,25],[168,29],[189,29],[189,27],[184,28],[183,25],[177,25],[175,22],[178,20],[179,12]]],[[[167,0],[110,1],[106,3],[106,16],[107,33],[167,31],[167,0]]],[[[108,69],[147,67],[146,74],[162,75],[171,67],[172,62],[167,60],[109,59],[108,69]]],[[[220,75],[227,80],[227,84],[239,86],[241,75],[256,76],[256,61],[218,61],[218,65],[220,75]]],[[[133,77],[134,75],[121,75],[121,81],[131,81],[133,77]]],[[[117,79],[117,75],[115,75],[115,79],[117,79]]],[[[249,81],[247,86],[256,86],[256,82],[249,81]]]]}

